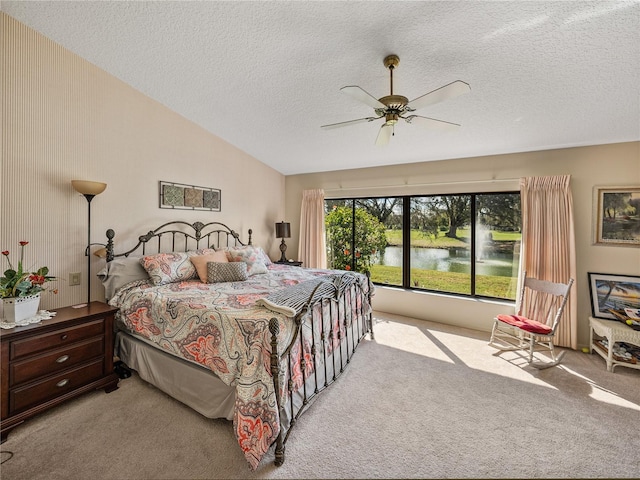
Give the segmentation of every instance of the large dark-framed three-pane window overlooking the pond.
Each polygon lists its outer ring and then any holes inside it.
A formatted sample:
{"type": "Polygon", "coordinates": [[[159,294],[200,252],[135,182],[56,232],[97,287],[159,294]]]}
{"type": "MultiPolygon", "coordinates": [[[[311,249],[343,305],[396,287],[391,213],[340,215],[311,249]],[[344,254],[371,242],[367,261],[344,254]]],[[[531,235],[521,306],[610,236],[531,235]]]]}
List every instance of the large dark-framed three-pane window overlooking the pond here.
{"type": "Polygon", "coordinates": [[[516,297],[520,194],[326,200],[328,263],[374,283],[516,297]]]}

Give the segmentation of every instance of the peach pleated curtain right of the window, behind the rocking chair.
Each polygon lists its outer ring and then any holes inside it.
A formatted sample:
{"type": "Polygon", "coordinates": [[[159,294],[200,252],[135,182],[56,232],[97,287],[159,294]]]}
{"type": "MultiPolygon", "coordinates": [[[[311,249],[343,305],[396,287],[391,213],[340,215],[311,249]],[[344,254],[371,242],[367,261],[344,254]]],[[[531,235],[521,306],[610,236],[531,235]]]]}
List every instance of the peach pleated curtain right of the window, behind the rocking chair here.
{"type": "MultiPolygon", "coordinates": [[[[569,175],[564,175],[528,177],[520,180],[521,276],[526,272],[528,277],[557,283],[567,283],[570,278],[576,278],[573,200],[569,179],[569,175]]],[[[520,284],[522,281],[522,278],[519,278],[520,284]]],[[[532,299],[527,299],[527,303],[529,300],[532,299]]],[[[578,348],[577,304],[574,283],[556,331],[554,344],[578,348]]],[[[527,314],[535,315],[532,312],[527,314]]]]}

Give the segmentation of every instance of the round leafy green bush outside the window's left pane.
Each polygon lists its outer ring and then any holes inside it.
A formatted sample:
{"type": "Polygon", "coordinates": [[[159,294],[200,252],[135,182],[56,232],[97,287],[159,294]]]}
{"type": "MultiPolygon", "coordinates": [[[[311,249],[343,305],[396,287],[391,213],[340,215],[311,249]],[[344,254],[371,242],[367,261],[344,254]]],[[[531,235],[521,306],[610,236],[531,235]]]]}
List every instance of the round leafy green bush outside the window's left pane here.
{"type": "Polygon", "coordinates": [[[325,217],[327,248],[333,268],[370,272],[371,259],[387,246],[385,226],[362,208],[355,210],[355,245],[353,235],[353,210],[334,205],[325,217]]]}

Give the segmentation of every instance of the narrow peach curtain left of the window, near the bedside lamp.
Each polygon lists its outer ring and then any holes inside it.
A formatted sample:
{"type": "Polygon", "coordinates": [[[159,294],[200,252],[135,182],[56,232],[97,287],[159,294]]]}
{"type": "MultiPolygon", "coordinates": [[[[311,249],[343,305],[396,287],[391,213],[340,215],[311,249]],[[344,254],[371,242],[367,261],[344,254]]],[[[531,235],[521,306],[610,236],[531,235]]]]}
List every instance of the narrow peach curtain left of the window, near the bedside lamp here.
{"type": "Polygon", "coordinates": [[[298,258],[305,267],[327,268],[324,227],[324,190],[304,190],[300,210],[298,258]]]}

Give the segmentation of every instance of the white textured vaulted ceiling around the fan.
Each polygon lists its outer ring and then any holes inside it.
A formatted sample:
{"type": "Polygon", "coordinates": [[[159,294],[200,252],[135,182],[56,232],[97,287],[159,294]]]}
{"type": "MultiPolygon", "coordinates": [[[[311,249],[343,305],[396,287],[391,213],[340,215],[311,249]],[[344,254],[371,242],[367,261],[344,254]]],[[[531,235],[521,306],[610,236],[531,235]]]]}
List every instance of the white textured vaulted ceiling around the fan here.
{"type": "Polygon", "coordinates": [[[0,8],[283,174],[640,140],[640,3],[13,2],[0,8]],[[381,120],[340,92],[409,100],[454,132],[381,120]]]}

